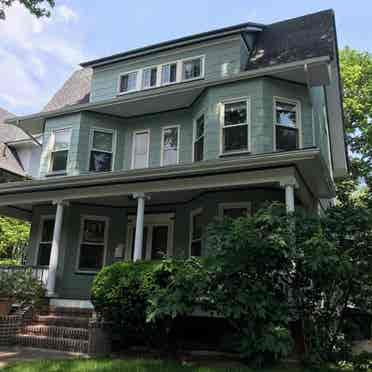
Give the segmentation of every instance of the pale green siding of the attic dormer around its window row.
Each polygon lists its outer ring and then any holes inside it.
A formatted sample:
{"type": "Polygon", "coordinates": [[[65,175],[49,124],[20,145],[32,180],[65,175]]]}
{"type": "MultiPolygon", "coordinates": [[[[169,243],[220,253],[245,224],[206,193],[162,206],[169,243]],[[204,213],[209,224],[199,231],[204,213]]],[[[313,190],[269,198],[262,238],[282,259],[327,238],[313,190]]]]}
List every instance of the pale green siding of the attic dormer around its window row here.
{"type": "Polygon", "coordinates": [[[240,36],[230,36],[200,43],[193,48],[178,48],[173,52],[161,52],[95,68],[90,101],[97,102],[116,97],[118,79],[121,73],[193,56],[205,56],[205,80],[214,80],[237,74],[241,69],[242,42],[240,36]]]}

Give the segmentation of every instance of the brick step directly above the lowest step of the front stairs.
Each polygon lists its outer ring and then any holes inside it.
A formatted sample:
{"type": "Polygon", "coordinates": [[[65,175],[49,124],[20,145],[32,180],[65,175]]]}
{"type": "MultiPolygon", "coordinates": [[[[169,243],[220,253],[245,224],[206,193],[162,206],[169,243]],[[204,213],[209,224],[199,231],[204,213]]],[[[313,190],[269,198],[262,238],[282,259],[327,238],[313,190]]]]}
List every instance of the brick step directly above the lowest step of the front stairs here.
{"type": "Polygon", "coordinates": [[[88,340],[86,328],[58,327],[54,325],[31,324],[23,329],[23,333],[34,336],[48,336],[68,338],[74,340],[88,340]]]}

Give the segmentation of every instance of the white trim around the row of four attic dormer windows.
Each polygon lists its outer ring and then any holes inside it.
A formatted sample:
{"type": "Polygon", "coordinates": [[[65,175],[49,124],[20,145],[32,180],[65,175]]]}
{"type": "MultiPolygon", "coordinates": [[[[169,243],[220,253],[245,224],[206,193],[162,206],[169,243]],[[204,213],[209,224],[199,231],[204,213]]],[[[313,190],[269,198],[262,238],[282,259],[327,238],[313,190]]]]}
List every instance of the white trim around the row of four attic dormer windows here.
{"type": "Polygon", "coordinates": [[[168,85],[174,85],[174,84],[179,84],[179,83],[185,83],[185,82],[189,82],[189,81],[204,79],[205,78],[205,59],[206,59],[206,57],[203,54],[203,55],[191,56],[191,57],[182,58],[182,59],[176,59],[176,60],[173,60],[173,61],[167,61],[167,62],[160,63],[160,64],[145,66],[143,68],[136,69],[136,70],[121,72],[119,74],[118,81],[117,81],[117,88],[116,88],[117,95],[121,96],[121,95],[125,95],[125,94],[128,94],[128,93],[134,93],[134,92],[138,92],[138,91],[142,91],[142,90],[155,89],[155,88],[159,88],[159,87],[166,87],[168,85]],[[183,76],[182,76],[183,75],[183,64],[184,64],[184,62],[187,62],[187,61],[190,61],[190,60],[193,60],[193,59],[201,59],[201,74],[200,74],[200,76],[197,76],[197,77],[194,77],[194,78],[183,79],[183,76]],[[173,64],[173,63],[176,64],[176,66],[177,66],[176,81],[162,84],[161,75],[162,75],[163,66],[170,65],[170,64],[173,64]],[[143,71],[147,70],[149,68],[155,68],[155,67],[157,68],[156,84],[152,87],[144,88],[143,87],[143,71]],[[121,92],[120,91],[120,82],[121,82],[122,76],[131,74],[131,73],[134,73],[134,72],[137,73],[136,88],[131,89],[131,90],[127,90],[125,92],[121,92]]]}

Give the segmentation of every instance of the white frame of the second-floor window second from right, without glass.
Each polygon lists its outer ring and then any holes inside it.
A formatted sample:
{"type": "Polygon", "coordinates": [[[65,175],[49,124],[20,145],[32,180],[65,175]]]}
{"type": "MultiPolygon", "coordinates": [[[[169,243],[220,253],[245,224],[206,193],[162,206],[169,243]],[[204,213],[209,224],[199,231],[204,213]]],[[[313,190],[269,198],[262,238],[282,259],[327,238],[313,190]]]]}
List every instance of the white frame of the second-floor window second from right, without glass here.
{"type": "Polygon", "coordinates": [[[235,154],[247,154],[251,152],[251,98],[250,97],[237,97],[220,102],[220,156],[235,155],[235,154]],[[225,125],[225,105],[236,102],[246,102],[247,105],[247,121],[246,123],[239,123],[234,125],[225,125]],[[224,128],[233,128],[238,126],[248,126],[248,140],[246,150],[235,150],[235,151],[224,151],[224,128]]]}

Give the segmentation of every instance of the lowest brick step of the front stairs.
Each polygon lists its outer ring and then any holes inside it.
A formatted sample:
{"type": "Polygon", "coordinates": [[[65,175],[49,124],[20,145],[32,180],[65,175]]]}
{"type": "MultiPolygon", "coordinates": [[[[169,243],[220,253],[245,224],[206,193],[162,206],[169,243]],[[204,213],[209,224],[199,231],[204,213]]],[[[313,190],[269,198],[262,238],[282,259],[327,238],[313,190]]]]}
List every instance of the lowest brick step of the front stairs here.
{"type": "Polygon", "coordinates": [[[54,349],[61,351],[70,351],[74,353],[87,353],[88,341],[74,340],[71,338],[35,336],[29,334],[16,335],[15,342],[18,345],[37,347],[41,349],[54,349]]]}

